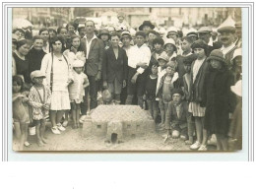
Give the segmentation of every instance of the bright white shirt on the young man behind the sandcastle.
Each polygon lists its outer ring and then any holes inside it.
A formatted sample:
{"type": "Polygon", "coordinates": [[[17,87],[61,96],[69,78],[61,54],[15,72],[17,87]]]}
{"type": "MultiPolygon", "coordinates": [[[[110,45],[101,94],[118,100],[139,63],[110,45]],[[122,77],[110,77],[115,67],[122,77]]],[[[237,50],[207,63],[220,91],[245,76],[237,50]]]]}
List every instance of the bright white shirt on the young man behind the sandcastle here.
{"type": "MultiPolygon", "coordinates": [[[[132,68],[136,68],[136,65],[140,62],[146,63],[149,66],[151,61],[151,49],[144,43],[141,47],[134,45],[130,49],[128,57],[128,66],[132,68]]],[[[145,71],[143,68],[137,69],[139,74],[142,74],[145,71]]]]}

